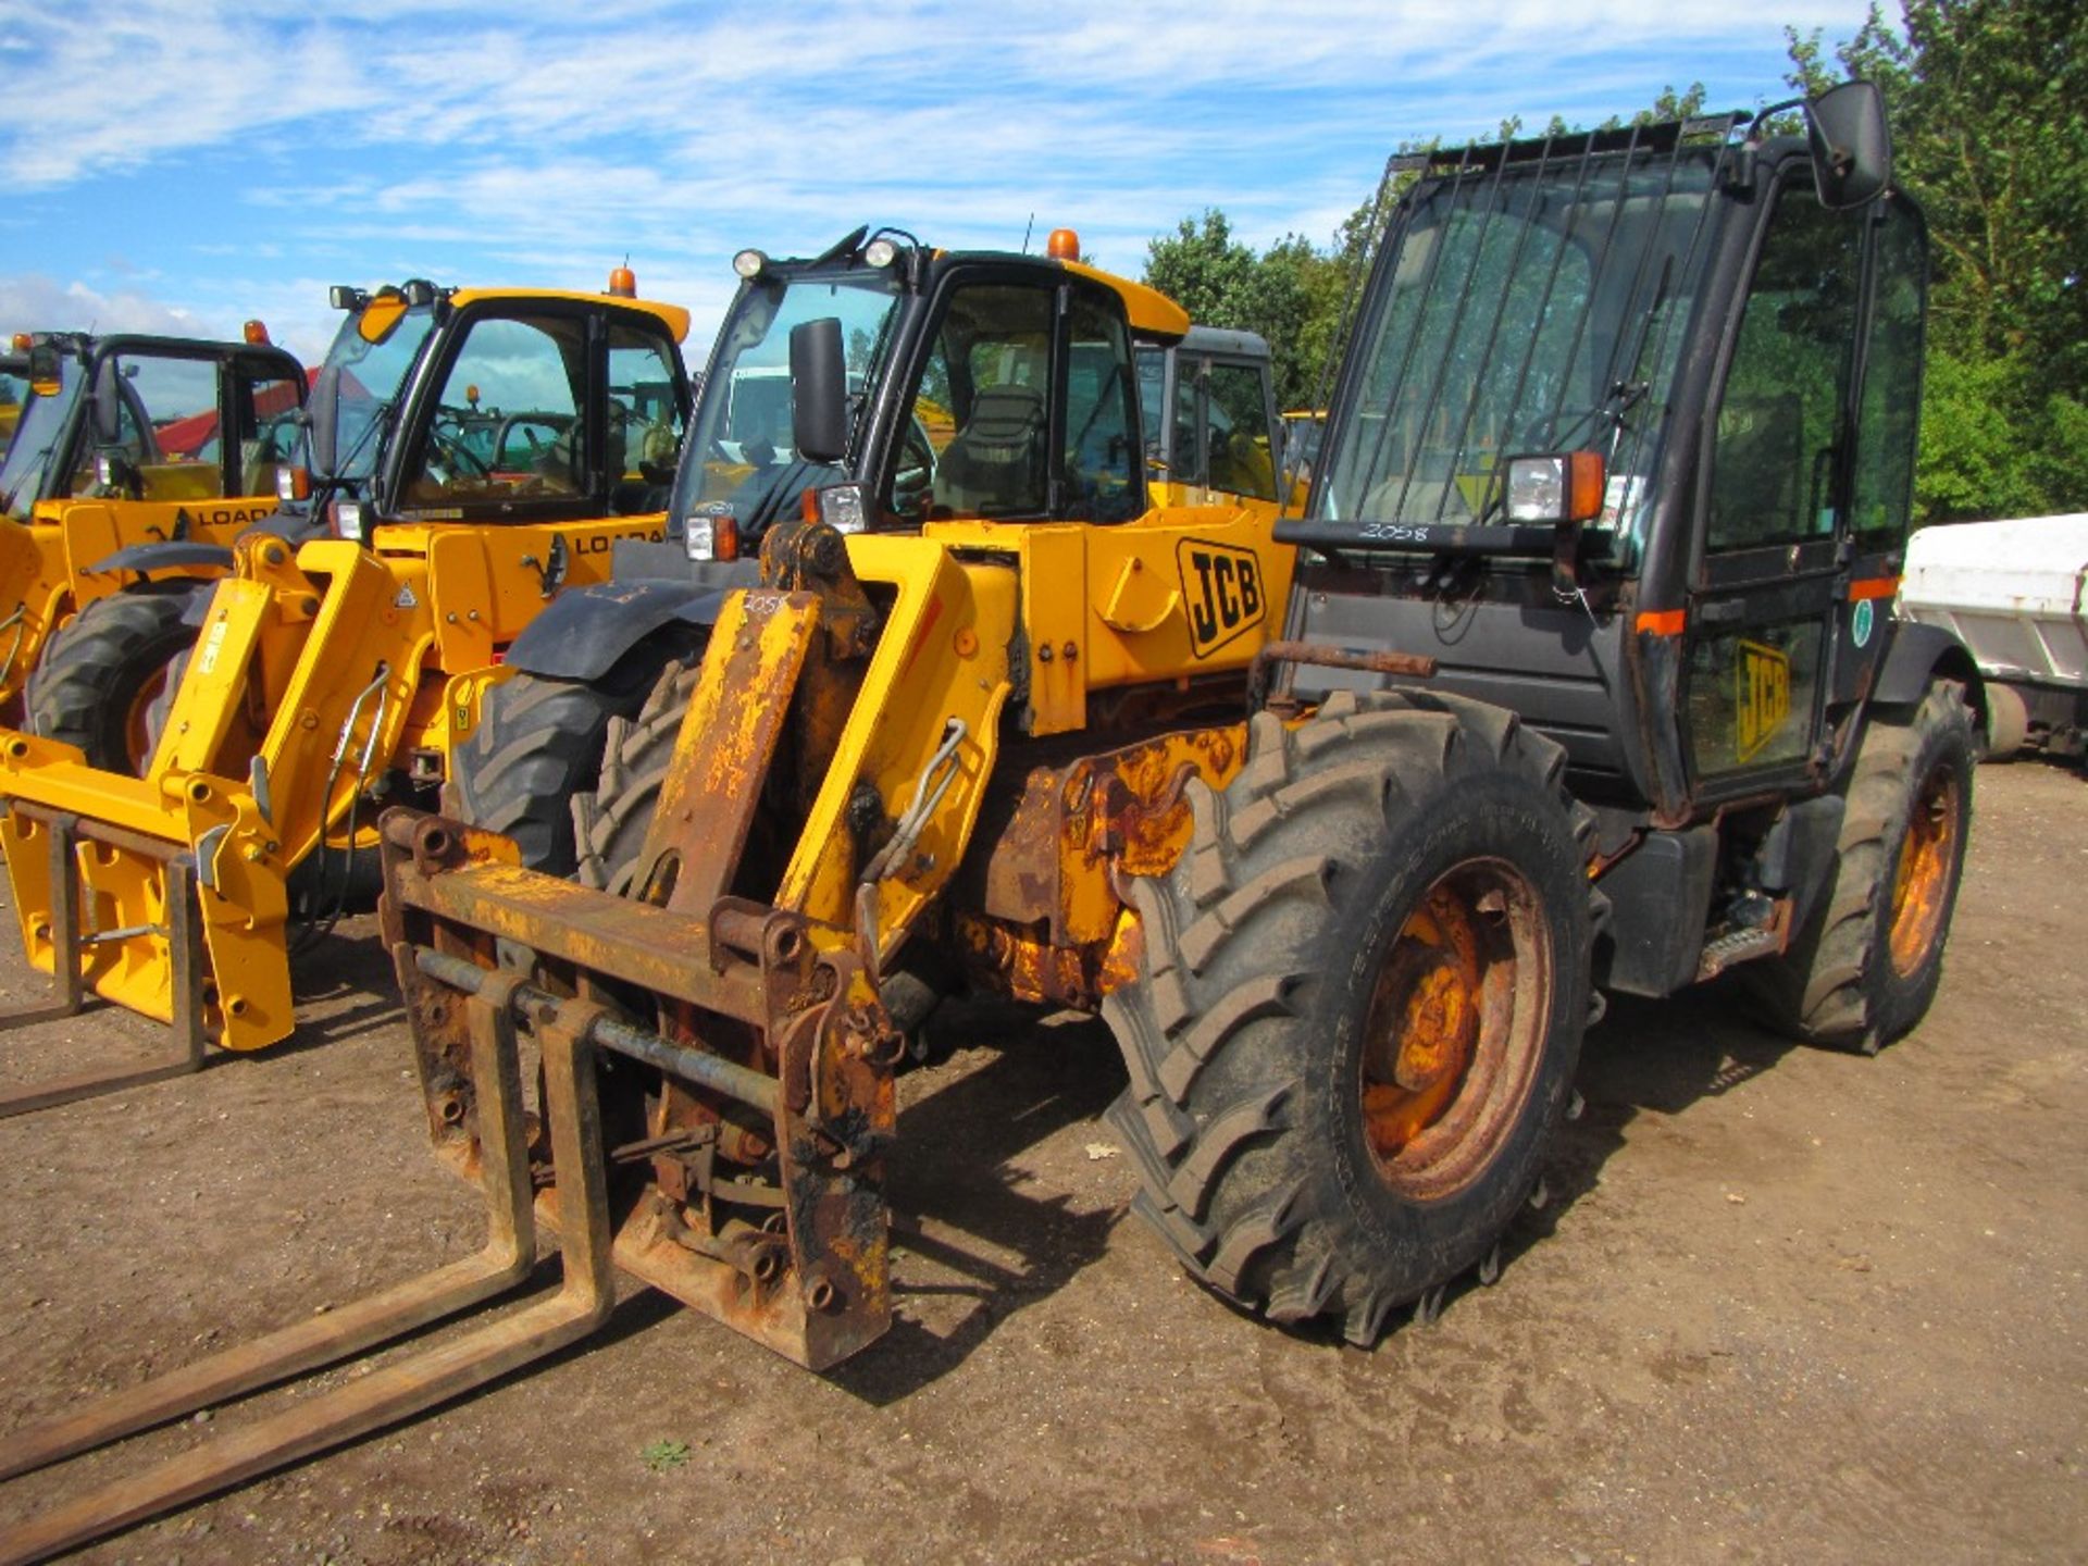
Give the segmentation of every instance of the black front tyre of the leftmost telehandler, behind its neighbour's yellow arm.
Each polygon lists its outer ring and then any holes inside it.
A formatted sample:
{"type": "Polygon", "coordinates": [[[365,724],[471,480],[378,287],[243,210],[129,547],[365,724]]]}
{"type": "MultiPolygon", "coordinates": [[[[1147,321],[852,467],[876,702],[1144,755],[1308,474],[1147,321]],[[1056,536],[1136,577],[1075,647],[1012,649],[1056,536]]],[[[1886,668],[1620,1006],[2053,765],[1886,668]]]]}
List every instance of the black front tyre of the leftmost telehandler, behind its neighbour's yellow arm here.
{"type": "Polygon", "coordinates": [[[29,672],[29,733],[79,745],[90,766],[142,777],[196,626],[182,616],[209,583],[94,599],[29,672]]]}

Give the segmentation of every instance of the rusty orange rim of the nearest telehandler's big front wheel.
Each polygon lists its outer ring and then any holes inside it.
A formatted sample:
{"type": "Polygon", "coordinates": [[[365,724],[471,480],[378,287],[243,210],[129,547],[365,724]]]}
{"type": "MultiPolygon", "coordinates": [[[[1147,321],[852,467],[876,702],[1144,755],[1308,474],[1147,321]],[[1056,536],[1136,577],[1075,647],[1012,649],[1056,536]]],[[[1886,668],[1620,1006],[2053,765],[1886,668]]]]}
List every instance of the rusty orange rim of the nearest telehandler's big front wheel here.
{"type": "Polygon", "coordinates": [[[1439,875],[1399,927],[1363,1021],[1363,1142],[1411,1199],[1474,1180],[1522,1117],[1551,1011],[1543,904],[1505,860],[1439,875]]]}

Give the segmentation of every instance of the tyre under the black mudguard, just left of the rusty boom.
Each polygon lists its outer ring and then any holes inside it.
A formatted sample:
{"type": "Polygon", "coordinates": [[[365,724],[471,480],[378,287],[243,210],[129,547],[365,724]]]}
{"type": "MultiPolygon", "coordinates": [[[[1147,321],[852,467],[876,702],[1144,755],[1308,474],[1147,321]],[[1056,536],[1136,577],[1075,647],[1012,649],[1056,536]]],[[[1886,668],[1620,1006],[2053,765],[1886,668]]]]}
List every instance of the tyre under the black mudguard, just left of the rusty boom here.
{"type": "Polygon", "coordinates": [[[449,758],[443,808],[514,837],[530,869],[572,875],[580,864],[572,804],[597,785],[610,735],[639,710],[649,672],[620,664],[595,683],[501,681],[487,691],[478,729],[449,758]]]}

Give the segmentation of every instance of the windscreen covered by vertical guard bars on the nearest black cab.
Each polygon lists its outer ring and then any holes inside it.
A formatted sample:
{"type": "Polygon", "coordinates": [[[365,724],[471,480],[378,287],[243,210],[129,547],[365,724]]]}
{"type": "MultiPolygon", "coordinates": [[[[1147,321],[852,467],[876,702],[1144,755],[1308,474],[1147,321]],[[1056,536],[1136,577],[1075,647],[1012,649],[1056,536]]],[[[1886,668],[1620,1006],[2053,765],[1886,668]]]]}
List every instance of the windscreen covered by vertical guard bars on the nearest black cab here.
{"type": "Polygon", "coordinates": [[[1399,547],[1503,520],[1505,461],[1599,451],[1631,555],[1702,286],[1718,148],[1474,165],[1409,198],[1315,520],[1399,547]],[[1389,280],[1389,286],[1386,286],[1389,280]]]}

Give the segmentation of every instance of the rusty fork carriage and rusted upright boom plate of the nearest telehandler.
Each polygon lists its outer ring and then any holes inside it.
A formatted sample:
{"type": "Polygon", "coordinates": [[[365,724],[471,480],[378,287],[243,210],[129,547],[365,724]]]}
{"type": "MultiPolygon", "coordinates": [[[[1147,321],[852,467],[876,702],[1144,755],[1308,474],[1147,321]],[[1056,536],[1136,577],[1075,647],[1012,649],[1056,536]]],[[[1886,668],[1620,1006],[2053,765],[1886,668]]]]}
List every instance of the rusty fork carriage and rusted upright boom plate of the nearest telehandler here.
{"type": "MultiPolygon", "coordinates": [[[[773,535],[777,537],[777,535],[773,535]]],[[[848,716],[875,614],[831,528],[764,545],[770,583],[727,601],[639,852],[637,898],[532,875],[455,823],[384,821],[384,933],[413,1019],[428,1128],[461,1171],[476,1146],[476,1067],[457,1009],[495,965],[524,1027],[597,1006],[580,1040],[641,1069],[610,1073],[603,1134],[622,1178],[616,1265],[798,1363],[825,1368],[892,1320],[883,1157],[900,1040],[848,931],[770,906],[775,844],[756,825],[808,800],[848,716]],[[785,591],[787,589],[787,591],[785,591]]],[[[770,833],[773,835],[773,833],[770,833]]],[[[537,1171],[564,1221],[566,1155],[537,1171]]]]}

